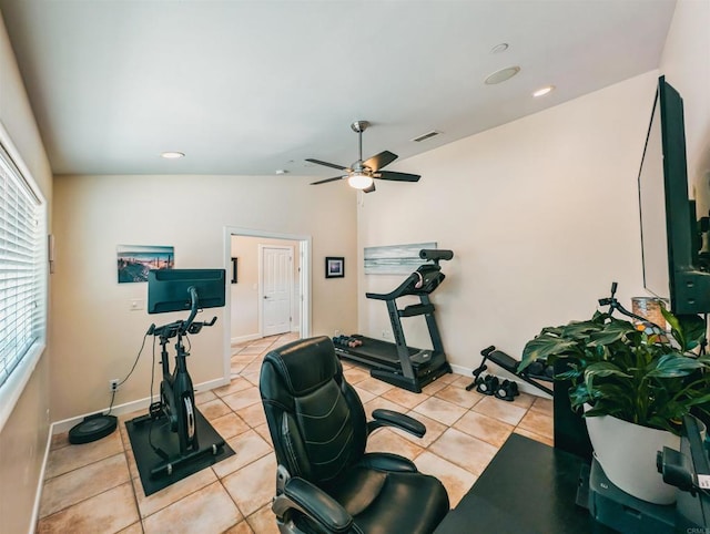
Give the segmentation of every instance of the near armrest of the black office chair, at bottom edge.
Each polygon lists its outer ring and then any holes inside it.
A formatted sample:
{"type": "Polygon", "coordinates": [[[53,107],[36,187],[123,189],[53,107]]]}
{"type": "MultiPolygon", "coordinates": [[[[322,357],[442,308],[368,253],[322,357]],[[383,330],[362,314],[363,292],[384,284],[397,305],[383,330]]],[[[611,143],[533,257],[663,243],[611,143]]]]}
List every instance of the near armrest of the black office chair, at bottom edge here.
{"type": "Polygon", "coordinates": [[[347,533],[355,526],[351,514],[337,501],[311,482],[296,476],[286,482],[283,493],[276,495],[272,506],[278,517],[283,517],[288,509],[298,510],[325,532],[347,533]]]}

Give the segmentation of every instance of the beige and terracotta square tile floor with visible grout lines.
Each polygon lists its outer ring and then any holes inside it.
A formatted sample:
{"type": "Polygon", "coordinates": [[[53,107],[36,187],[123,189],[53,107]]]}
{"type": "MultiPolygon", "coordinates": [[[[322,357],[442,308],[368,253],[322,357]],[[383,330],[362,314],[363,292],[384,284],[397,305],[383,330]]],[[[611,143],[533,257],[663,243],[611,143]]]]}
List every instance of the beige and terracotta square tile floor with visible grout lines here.
{"type": "MultiPolygon", "coordinates": [[[[120,432],[83,445],[52,438],[40,505],[39,533],[277,533],[271,499],[276,461],[258,394],[263,356],[293,335],[232,347],[232,382],[196,394],[196,405],[235,454],[145,496],[124,421],[120,432]]],[[[365,411],[389,408],[427,427],[423,439],[382,429],[368,451],[397,452],[446,486],[452,507],[511,432],[551,444],[551,401],[521,393],[514,402],[466,391],[470,377],[446,374],[417,394],[344,363],[365,411]]]]}

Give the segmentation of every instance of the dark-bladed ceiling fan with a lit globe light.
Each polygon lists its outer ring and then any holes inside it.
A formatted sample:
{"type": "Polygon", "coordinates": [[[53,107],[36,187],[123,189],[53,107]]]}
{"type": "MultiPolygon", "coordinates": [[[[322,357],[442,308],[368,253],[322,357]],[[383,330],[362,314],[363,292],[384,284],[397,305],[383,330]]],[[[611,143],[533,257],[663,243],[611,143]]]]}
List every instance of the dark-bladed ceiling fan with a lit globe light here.
{"type": "Polygon", "coordinates": [[[393,154],[389,151],[381,152],[372,156],[369,160],[363,161],[363,132],[367,130],[369,123],[367,121],[355,121],[351,124],[353,132],[357,133],[359,140],[359,160],[353,163],[349,167],[336,165],[335,163],[322,162],[321,160],[308,158],[306,162],[316,163],[318,165],[325,165],[326,167],[337,168],[344,171],[344,174],[334,176],[332,178],[320,179],[313,182],[311,185],[325,184],[327,182],[335,182],[336,179],[347,178],[351,187],[356,189],[363,189],[365,193],[372,193],[375,191],[375,182],[373,178],[378,179],[392,179],[395,182],[418,182],[422,176],[417,174],[397,173],[394,171],[382,171],[383,167],[389,165],[397,158],[397,154],[393,154]]]}

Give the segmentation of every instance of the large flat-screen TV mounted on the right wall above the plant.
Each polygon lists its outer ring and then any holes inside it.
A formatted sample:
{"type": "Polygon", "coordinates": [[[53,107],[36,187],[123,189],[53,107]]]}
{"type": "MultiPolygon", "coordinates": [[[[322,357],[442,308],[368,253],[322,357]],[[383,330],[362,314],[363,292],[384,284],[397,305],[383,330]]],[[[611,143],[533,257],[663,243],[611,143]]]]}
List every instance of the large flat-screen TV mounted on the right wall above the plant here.
{"type": "Polygon", "coordinates": [[[683,101],[665,76],[639,172],[643,286],[676,315],[710,311],[710,184],[688,195],[683,101]]]}

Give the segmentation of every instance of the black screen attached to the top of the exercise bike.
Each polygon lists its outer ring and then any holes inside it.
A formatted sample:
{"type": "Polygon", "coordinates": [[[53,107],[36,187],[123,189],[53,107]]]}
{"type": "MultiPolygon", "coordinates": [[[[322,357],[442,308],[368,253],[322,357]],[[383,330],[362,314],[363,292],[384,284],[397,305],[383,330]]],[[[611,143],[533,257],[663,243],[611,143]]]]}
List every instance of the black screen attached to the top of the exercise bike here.
{"type": "Polygon", "coordinates": [[[190,288],[197,308],[221,308],[225,301],[225,269],[155,269],[148,273],[148,312],[190,310],[190,288]]]}

